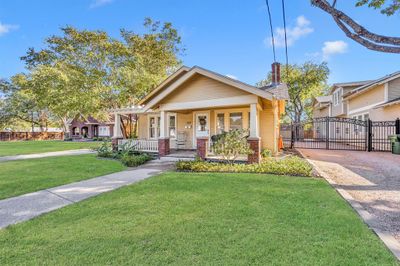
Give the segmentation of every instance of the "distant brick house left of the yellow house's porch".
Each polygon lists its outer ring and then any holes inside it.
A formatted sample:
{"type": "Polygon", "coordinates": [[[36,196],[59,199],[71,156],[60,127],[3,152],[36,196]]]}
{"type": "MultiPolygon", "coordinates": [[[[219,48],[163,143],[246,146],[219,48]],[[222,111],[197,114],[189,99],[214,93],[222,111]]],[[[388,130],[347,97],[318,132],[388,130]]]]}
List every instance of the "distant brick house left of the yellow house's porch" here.
{"type": "Polygon", "coordinates": [[[69,125],[73,139],[92,139],[95,137],[112,137],[114,121],[98,121],[93,117],[86,120],[74,119],[69,125]]]}

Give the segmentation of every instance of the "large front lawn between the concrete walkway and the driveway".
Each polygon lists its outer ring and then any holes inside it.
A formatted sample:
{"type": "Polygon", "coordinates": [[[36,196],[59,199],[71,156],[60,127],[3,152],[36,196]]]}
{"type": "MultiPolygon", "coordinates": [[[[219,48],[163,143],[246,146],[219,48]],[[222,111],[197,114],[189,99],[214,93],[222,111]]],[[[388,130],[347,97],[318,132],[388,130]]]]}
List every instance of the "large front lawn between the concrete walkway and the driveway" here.
{"type": "Polygon", "coordinates": [[[167,173],[0,231],[2,265],[398,265],[320,179],[167,173]]]}

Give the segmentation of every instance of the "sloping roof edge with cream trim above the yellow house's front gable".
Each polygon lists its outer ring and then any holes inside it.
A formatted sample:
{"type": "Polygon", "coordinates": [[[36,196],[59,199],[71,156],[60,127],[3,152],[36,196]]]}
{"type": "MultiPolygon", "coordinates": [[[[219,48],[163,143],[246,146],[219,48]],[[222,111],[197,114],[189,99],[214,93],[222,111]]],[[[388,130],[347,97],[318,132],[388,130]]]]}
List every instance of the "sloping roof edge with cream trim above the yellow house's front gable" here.
{"type": "Polygon", "coordinates": [[[153,92],[151,92],[147,97],[141,100],[139,104],[145,105],[144,111],[152,108],[154,105],[159,103],[163,98],[172,93],[185,81],[187,81],[196,74],[209,77],[211,79],[225,83],[240,90],[257,95],[264,99],[268,100],[287,99],[283,98],[284,96],[286,96],[284,95],[284,90],[286,89],[287,91],[287,87],[285,84],[276,84],[271,86],[269,89],[264,90],[199,66],[194,66],[192,68],[184,66],[180,68],[178,71],[176,71],[174,74],[172,74],[170,77],[168,77],[164,82],[162,82],[153,92]]]}

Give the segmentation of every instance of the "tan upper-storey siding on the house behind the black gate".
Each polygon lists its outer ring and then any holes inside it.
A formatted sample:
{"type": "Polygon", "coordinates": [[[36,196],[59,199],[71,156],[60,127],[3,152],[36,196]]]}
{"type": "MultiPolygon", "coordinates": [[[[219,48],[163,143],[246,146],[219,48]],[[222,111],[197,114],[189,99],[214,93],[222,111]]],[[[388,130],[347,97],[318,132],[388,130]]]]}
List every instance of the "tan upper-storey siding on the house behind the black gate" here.
{"type": "Polygon", "coordinates": [[[383,102],[385,100],[385,85],[377,86],[367,92],[364,92],[354,98],[349,99],[348,111],[354,111],[372,104],[383,102]]]}

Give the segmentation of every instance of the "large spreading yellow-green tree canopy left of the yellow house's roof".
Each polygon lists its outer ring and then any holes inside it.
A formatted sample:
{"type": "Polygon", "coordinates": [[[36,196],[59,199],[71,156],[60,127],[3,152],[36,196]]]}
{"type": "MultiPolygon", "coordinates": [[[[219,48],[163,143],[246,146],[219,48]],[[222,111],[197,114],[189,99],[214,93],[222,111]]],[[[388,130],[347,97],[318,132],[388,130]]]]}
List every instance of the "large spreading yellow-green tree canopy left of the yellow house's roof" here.
{"type": "Polygon", "coordinates": [[[65,27],[44,49],[30,48],[22,60],[37,104],[58,117],[64,130],[75,117],[104,119],[110,108],[135,104],[180,64],[183,50],[171,23],[146,19],[144,26],[144,34],[121,30],[120,39],[65,27]]]}

